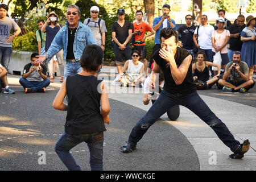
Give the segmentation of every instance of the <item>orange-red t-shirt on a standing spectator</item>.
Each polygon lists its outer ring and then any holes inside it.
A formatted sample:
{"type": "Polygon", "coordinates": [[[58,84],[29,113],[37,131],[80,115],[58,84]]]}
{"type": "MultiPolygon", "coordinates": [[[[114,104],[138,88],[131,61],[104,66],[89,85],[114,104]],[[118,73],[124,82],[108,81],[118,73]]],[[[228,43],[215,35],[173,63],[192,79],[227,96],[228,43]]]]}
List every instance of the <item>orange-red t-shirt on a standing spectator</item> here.
{"type": "MultiPolygon", "coordinates": [[[[146,34],[147,31],[151,31],[152,28],[150,27],[149,24],[142,22],[141,24],[137,24],[137,22],[133,23],[133,30],[137,31],[139,30],[139,34],[138,35],[134,35],[135,40],[141,40],[143,41],[143,38],[146,34]]],[[[135,46],[144,46],[146,45],[145,43],[142,44],[134,44],[135,46]]]]}

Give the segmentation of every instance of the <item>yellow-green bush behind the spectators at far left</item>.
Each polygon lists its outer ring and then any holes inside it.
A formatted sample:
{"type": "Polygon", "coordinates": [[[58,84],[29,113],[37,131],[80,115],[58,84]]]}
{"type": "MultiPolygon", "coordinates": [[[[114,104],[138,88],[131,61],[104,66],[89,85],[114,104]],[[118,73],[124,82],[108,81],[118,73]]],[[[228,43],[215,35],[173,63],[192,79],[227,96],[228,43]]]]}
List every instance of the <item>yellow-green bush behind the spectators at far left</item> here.
{"type": "Polygon", "coordinates": [[[37,51],[38,46],[35,33],[27,28],[25,29],[26,34],[18,36],[13,40],[13,48],[17,51],[37,51]]]}

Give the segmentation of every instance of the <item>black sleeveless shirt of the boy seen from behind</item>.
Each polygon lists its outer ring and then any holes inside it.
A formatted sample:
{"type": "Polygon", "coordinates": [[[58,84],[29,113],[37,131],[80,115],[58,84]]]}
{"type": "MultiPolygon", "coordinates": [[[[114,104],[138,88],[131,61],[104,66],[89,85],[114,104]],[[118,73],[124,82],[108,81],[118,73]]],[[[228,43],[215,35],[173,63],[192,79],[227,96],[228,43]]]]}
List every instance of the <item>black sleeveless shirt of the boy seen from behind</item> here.
{"type": "Polygon", "coordinates": [[[100,111],[101,93],[97,90],[101,81],[95,76],[79,74],[67,77],[66,133],[75,135],[106,131],[100,111]]]}

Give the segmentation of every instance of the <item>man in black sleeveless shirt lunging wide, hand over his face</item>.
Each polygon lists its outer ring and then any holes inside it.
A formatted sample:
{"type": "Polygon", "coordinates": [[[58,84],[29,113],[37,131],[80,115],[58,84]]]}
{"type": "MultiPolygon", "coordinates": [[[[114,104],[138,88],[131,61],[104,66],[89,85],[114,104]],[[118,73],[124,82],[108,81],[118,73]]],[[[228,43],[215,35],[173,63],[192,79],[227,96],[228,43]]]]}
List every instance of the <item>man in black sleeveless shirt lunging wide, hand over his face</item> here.
{"type": "MultiPolygon", "coordinates": [[[[218,138],[234,152],[230,158],[241,159],[250,148],[249,140],[240,144],[228,130],[228,127],[216,117],[196,92],[196,85],[192,75],[192,55],[187,50],[177,47],[177,33],[172,28],[163,28],[160,32],[159,51],[154,53],[154,67],[152,70],[151,88],[155,88],[155,73],[164,73],[164,88],[147,111],[146,115],[138,121],[130,133],[128,142],[121,147],[124,153],[136,150],[137,143],[158,118],[175,105],[187,107],[207,125],[209,125],[218,138]]],[[[159,131],[161,132],[161,131],[159,131]]]]}

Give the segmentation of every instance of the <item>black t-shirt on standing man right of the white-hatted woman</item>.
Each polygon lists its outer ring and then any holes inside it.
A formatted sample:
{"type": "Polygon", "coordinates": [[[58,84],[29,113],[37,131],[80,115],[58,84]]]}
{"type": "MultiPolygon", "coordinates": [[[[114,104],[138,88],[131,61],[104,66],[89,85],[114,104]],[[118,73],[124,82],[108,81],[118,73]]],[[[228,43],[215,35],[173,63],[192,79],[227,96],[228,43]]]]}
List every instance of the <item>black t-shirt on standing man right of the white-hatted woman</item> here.
{"type": "MultiPolygon", "coordinates": [[[[238,27],[237,24],[232,24],[229,27],[230,34],[241,34],[245,24],[242,27],[238,27]]],[[[232,51],[241,51],[243,42],[241,41],[241,36],[239,38],[230,38],[229,49],[232,51]]]]}

